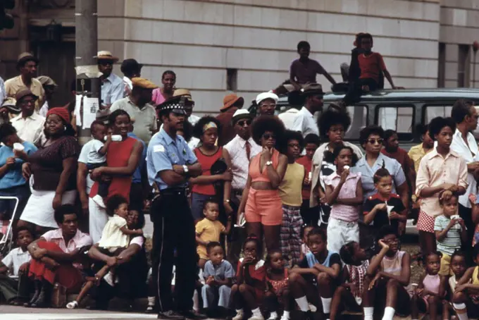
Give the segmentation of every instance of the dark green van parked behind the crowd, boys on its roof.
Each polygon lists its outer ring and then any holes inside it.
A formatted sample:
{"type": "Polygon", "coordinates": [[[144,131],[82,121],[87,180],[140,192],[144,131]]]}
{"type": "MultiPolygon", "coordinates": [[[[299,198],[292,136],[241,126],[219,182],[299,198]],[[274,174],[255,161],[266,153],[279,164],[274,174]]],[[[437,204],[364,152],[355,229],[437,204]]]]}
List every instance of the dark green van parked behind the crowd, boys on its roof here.
{"type": "MultiPolygon", "coordinates": [[[[324,96],[324,105],[339,102],[344,94],[328,92],[324,96]]],[[[409,149],[421,142],[416,125],[429,123],[437,116],[450,116],[452,105],[458,99],[466,99],[479,104],[479,89],[415,89],[415,90],[379,90],[361,97],[361,101],[347,109],[352,118],[352,125],[344,140],[356,142],[359,131],[366,125],[381,125],[384,129],[396,130],[401,147],[409,149]]],[[[282,113],[292,108],[287,97],[280,97],[277,112],[282,113]]],[[[298,106],[296,106],[298,107],[298,106]]],[[[250,111],[256,113],[256,106],[250,111]]],[[[479,130],[475,132],[479,137],[479,130]]]]}

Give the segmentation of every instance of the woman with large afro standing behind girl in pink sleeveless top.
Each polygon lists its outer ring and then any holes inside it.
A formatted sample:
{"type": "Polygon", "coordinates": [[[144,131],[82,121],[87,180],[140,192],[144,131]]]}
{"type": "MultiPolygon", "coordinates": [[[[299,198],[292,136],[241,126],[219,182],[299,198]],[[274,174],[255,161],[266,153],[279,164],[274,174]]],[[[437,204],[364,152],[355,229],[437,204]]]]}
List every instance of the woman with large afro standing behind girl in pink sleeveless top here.
{"type": "MultiPolygon", "coordinates": [[[[349,125],[351,125],[351,118],[349,117],[349,113],[344,109],[330,107],[321,113],[321,116],[318,118],[321,139],[328,140],[328,142],[321,144],[321,146],[316,149],[313,156],[313,166],[311,168],[313,174],[311,177],[311,197],[309,198],[309,206],[310,208],[313,208],[321,204],[321,209],[325,214],[325,217],[323,217],[322,220],[324,223],[328,223],[327,216],[329,216],[331,210],[330,207],[325,204],[324,178],[336,172],[334,157],[332,156],[333,150],[335,147],[344,145],[346,147],[351,147],[358,158],[363,156],[359,147],[356,147],[356,145],[351,142],[344,141],[344,133],[349,129],[349,125]]],[[[313,211],[311,210],[311,212],[313,211]]],[[[316,211],[316,216],[303,216],[305,223],[312,223],[313,226],[316,226],[318,219],[319,208],[316,211]]]]}

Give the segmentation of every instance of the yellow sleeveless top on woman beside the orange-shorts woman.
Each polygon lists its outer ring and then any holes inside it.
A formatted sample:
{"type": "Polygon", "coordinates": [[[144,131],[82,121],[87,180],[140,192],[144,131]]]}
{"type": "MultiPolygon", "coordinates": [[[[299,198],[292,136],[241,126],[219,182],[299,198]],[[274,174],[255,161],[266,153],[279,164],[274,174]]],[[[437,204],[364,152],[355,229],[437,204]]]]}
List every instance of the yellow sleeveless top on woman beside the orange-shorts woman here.
{"type": "Polygon", "coordinates": [[[301,164],[288,164],[285,178],[280,183],[280,197],[282,204],[292,207],[301,207],[303,197],[301,190],[304,180],[304,166],[301,164]]]}

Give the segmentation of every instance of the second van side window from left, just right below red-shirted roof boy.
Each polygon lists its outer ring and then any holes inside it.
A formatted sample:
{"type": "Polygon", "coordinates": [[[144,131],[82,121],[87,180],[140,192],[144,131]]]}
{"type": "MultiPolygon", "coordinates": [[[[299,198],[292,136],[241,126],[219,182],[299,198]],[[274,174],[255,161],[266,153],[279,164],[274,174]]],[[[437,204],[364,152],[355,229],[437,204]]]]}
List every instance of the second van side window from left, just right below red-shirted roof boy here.
{"type": "MultiPolygon", "coordinates": [[[[376,107],[376,123],[384,130],[395,130],[401,133],[412,133],[414,106],[407,105],[378,105],[376,107]]],[[[412,135],[411,135],[412,138],[412,135]]]]}

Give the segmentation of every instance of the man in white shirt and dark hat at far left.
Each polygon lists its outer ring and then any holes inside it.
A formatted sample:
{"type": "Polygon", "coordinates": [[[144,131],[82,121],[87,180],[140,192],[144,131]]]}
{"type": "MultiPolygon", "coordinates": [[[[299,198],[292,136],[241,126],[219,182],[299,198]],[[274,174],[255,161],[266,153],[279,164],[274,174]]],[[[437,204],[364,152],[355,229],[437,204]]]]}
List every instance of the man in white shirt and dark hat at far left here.
{"type": "Polygon", "coordinates": [[[22,112],[11,119],[21,140],[36,143],[42,137],[45,118],[35,112],[35,101],[38,97],[29,89],[21,90],[16,94],[17,103],[22,112]]]}

